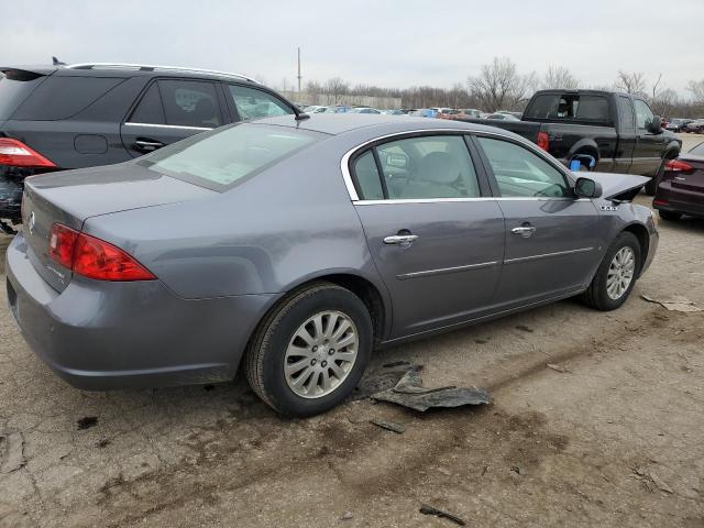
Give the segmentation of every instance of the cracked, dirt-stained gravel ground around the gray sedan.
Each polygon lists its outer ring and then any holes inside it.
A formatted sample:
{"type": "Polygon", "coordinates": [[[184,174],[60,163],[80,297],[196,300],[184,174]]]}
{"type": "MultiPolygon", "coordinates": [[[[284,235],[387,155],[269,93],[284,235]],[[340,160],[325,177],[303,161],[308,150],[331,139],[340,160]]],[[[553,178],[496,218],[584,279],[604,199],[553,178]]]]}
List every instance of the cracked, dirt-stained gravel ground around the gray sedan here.
{"type": "Polygon", "coordinates": [[[28,349],[2,288],[0,527],[453,526],[422,503],[477,527],[704,527],[704,312],[640,298],[704,307],[704,221],[660,228],[620,310],[568,300],[377,353],[362,393],[409,361],[429,386],[494,397],[425,415],[361,398],[282,420],[241,378],[76,391],[28,349]]]}

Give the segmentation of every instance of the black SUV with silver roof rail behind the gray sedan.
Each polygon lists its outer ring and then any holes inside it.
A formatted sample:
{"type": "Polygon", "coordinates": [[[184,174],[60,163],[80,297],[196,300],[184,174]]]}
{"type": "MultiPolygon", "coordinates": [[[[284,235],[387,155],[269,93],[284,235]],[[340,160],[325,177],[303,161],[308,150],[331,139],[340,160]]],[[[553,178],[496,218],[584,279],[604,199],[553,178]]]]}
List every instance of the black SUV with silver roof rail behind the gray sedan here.
{"type": "Polygon", "coordinates": [[[23,180],[128,161],[204,130],[297,113],[243,75],[170,66],[0,67],[0,228],[20,223],[23,180]]]}

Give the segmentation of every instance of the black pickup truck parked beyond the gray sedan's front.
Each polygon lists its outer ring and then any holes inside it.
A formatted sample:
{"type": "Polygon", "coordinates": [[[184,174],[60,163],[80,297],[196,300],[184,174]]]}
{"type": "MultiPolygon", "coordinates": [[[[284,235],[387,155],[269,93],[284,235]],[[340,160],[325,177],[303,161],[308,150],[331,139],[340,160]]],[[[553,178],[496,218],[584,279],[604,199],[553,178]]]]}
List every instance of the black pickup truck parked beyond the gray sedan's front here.
{"type": "Polygon", "coordinates": [[[651,176],[653,195],[664,162],[675,158],[682,142],[662,129],[646,101],[637,96],[602,90],[537,91],[520,121],[462,121],[491,124],[537,143],[565,165],[596,161],[600,173],[651,176]]]}

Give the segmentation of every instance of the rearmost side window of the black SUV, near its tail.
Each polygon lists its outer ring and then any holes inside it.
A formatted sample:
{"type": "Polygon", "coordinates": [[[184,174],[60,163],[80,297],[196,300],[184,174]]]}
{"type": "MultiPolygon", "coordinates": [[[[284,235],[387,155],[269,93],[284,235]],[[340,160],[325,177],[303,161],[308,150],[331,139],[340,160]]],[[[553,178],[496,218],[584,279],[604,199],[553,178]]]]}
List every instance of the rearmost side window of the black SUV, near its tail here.
{"type": "Polygon", "coordinates": [[[112,77],[53,75],[32,92],[32,97],[18,108],[12,118],[32,121],[57,121],[72,118],[123,80],[112,77]]]}

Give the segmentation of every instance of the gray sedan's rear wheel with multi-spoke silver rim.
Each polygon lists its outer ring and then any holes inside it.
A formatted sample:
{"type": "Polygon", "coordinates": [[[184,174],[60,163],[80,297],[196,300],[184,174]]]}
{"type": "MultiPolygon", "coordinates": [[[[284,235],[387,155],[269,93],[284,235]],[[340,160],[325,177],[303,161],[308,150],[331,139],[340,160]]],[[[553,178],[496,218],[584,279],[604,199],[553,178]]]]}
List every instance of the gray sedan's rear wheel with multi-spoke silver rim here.
{"type": "Polygon", "coordinates": [[[332,283],[314,283],[292,293],[260,324],[245,353],[246,378],[277,413],[318,415],[354,389],[372,346],[364,302],[332,283]]]}

